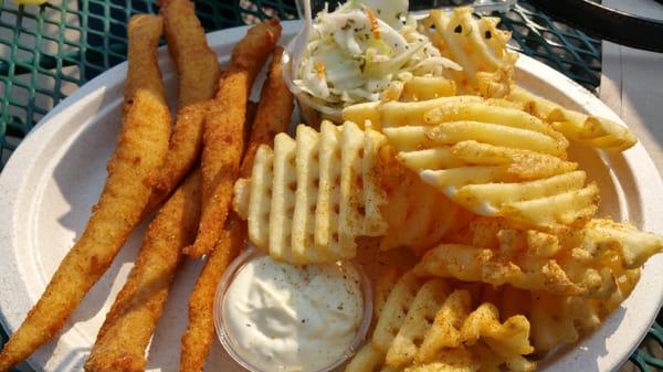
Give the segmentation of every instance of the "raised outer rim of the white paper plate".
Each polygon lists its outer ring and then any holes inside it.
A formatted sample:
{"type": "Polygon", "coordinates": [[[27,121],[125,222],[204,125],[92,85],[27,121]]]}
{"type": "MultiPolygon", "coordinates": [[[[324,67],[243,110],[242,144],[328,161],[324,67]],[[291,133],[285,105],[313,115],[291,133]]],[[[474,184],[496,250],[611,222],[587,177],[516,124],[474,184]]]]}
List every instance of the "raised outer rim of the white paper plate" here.
{"type": "MultiPolygon", "coordinates": [[[[293,35],[301,29],[302,21],[282,21],[282,25],[284,36],[293,35]]],[[[212,45],[234,43],[239,41],[241,36],[243,36],[248,28],[248,25],[244,25],[214,31],[208,33],[207,39],[208,42],[212,45]]],[[[167,56],[166,46],[161,46],[159,49],[159,59],[161,60],[164,55],[166,55],[166,57],[169,57],[167,56]]],[[[17,202],[21,200],[21,198],[19,198],[20,193],[25,192],[25,184],[28,182],[27,174],[29,174],[29,171],[35,166],[35,159],[38,158],[36,153],[39,152],[40,148],[39,145],[52,138],[52,136],[55,135],[59,130],[59,126],[56,123],[52,123],[52,125],[46,124],[51,121],[56,121],[57,117],[61,114],[66,113],[67,110],[76,110],[77,107],[80,108],[84,106],[84,104],[88,99],[94,98],[95,93],[105,92],[105,86],[110,85],[110,82],[116,82],[116,76],[118,74],[119,76],[125,75],[124,72],[126,71],[126,67],[127,62],[125,61],[109,68],[103,74],[96,76],[95,78],[91,79],[90,82],[77,88],[71,96],[60,102],[33,127],[30,134],[21,141],[17,150],[9,158],[3,171],[0,173],[0,205],[6,205],[8,208],[8,211],[10,211],[10,213],[6,213],[0,216],[0,241],[6,242],[0,246],[0,254],[6,254],[4,257],[10,258],[0,261],[0,272],[8,273],[13,277],[10,278],[9,281],[14,280],[13,284],[17,284],[15,280],[19,280],[18,278],[21,277],[19,275],[20,268],[12,267],[14,265],[10,264],[15,261],[13,247],[15,234],[13,231],[14,226],[18,225],[15,221],[18,208],[17,202]]],[[[586,102],[586,105],[583,105],[582,108],[589,114],[598,115],[597,113],[600,113],[601,116],[606,116],[609,119],[612,119],[623,126],[627,126],[627,124],[598,97],[592,95],[590,92],[588,92],[582,86],[571,81],[560,72],[554,70],[552,67],[524,54],[519,55],[516,67],[525,71],[526,73],[533,76],[538,77],[543,84],[557,84],[562,85],[568,89],[571,89],[565,91],[565,95],[568,95],[571,99],[576,102],[586,102]],[[549,77],[543,78],[539,77],[539,75],[545,75],[549,77]]],[[[652,158],[646,152],[646,150],[642,146],[642,142],[640,141],[632,149],[619,156],[624,158],[630,168],[633,168],[636,161],[639,169],[645,169],[645,171],[639,172],[638,177],[633,178],[636,190],[643,195],[643,199],[641,201],[641,203],[643,204],[643,228],[648,231],[663,233],[663,227],[656,226],[656,224],[663,222],[663,206],[657,209],[653,208],[653,205],[663,205],[663,180],[661,179],[661,176],[652,158]],[[661,190],[662,192],[643,192],[648,190],[661,190]]],[[[663,264],[663,259],[660,258],[663,258],[663,255],[659,255],[657,257],[653,257],[652,259],[650,259],[648,266],[654,266],[653,263],[651,263],[653,261],[659,261],[659,264],[663,264]]],[[[650,268],[650,270],[653,270],[653,268],[650,268]]],[[[0,278],[0,287],[4,286],[7,276],[8,275],[3,275],[3,277],[0,278]]],[[[22,280],[19,281],[23,283],[22,280]]],[[[641,287],[641,284],[642,283],[639,283],[638,287],[641,287]]],[[[657,296],[656,301],[653,301],[657,304],[657,309],[661,308],[661,305],[663,304],[663,284],[660,286],[659,289],[660,290],[657,294],[652,294],[657,296]]],[[[23,288],[23,290],[27,291],[27,288],[23,288]]],[[[11,302],[10,300],[2,299],[4,297],[9,296],[0,296],[0,309],[7,307],[9,302],[11,302]]],[[[638,338],[633,337],[632,342],[629,343],[628,348],[619,350],[619,358],[611,359],[612,362],[609,362],[609,364],[612,365],[611,370],[617,370],[623,362],[625,362],[629,355],[631,355],[632,352],[638,348],[642,339],[644,339],[644,337],[648,333],[646,331],[655,320],[657,310],[652,312],[653,315],[648,319],[649,323],[646,325],[646,328],[640,327],[641,329],[644,329],[644,331],[639,331],[638,333],[640,336],[638,338]],[[617,362],[614,362],[615,359],[618,360],[617,362]]],[[[614,316],[614,313],[610,317],[612,316],[614,316]]],[[[2,327],[7,331],[8,336],[11,336],[12,330],[14,330],[15,327],[18,327],[20,321],[22,321],[22,318],[8,319],[6,316],[6,311],[0,311],[0,327],[2,327]],[[10,325],[13,325],[13,327],[10,327],[10,325]]],[[[608,322],[608,319],[604,321],[604,323],[606,322],[608,322]]],[[[639,325],[642,326],[644,323],[645,322],[640,322],[639,325]]],[[[614,331],[617,331],[617,329],[619,329],[620,327],[621,326],[615,328],[614,331]]],[[[599,330],[597,330],[592,337],[601,333],[601,330],[604,329],[606,327],[603,327],[602,325],[602,327],[599,330]]],[[[579,347],[580,343],[575,344],[573,349],[579,347]]],[[[614,355],[614,351],[611,351],[610,353],[612,354],[612,357],[617,357],[614,355]]],[[[34,363],[32,362],[32,358],[29,358],[27,362],[34,371],[40,370],[39,368],[35,368],[34,363]]]]}

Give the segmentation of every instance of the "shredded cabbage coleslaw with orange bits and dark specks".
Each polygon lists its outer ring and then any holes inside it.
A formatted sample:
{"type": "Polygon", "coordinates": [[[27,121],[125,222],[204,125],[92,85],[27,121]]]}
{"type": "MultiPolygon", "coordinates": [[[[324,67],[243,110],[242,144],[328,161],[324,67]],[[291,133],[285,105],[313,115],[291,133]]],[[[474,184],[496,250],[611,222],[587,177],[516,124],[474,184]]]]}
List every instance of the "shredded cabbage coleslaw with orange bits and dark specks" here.
{"type": "Polygon", "coordinates": [[[333,12],[319,12],[295,86],[343,107],[380,99],[393,81],[460,70],[417,31],[407,10],[407,0],[350,0],[333,12]]]}

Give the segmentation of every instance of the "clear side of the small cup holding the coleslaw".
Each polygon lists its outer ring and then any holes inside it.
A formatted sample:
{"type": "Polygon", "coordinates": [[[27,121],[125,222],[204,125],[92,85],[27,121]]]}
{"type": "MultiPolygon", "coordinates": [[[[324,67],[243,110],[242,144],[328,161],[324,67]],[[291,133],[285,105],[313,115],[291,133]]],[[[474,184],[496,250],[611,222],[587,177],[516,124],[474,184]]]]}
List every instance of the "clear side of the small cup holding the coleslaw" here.
{"type": "Polygon", "coordinates": [[[336,124],[343,124],[343,109],[328,107],[323,104],[315,102],[307,93],[302,92],[295,83],[293,83],[294,76],[292,74],[292,51],[294,47],[294,41],[287,44],[285,52],[283,52],[283,81],[287,85],[287,88],[297,99],[297,106],[299,107],[299,115],[305,124],[311,127],[319,128],[323,120],[330,120],[336,124]]]}

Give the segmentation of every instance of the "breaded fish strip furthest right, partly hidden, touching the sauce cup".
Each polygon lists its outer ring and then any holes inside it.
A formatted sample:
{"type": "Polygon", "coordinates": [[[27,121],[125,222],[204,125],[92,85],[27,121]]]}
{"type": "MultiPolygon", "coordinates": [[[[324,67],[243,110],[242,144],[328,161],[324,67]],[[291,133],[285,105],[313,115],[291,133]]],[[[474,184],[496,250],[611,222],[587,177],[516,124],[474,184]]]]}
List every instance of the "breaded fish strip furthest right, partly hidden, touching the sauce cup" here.
{"type": "MultiPolygon", "coordinates": [[[[274,51],[267,81],[263,85],[251,140],[242,160],[241,176],[248,177],[253,167],[251,149],[272,146],[274,135],[285,131],[293,114],[293,97],[281,76],[283,50],[274,51]]],[[[181,372],[200,372],[214,340],[213,304],[217,285],[225,268],[245,246],[246,222],[230,213],[221,237],[207,262],[189,298],[189,326],[182,337],[181,372]]]]}

